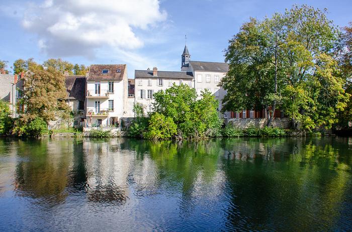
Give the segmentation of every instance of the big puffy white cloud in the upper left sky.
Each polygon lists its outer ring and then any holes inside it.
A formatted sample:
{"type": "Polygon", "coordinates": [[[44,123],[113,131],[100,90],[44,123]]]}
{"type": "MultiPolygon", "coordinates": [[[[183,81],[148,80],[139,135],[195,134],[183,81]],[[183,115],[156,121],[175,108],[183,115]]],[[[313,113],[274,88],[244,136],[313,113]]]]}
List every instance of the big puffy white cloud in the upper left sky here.
{"type": "Polygon", "coordinates": [[[49,56],[94,57],[100,48],[141,48],[135,32],[145,35],[165,20],[158,0],[46,0],[29,5],[22,25],[49,56]]]}

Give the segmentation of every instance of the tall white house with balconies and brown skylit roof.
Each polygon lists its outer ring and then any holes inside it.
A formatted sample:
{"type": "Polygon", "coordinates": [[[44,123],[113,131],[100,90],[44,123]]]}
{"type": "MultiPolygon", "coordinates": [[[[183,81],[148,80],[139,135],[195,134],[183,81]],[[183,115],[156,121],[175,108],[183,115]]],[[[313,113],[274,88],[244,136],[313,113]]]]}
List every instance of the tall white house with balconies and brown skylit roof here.
{"type": "Polygon", "coordinates": [[[118,126],[127,115],[127,66],[91,65],[85,89],[85,126],[118,126]]]}

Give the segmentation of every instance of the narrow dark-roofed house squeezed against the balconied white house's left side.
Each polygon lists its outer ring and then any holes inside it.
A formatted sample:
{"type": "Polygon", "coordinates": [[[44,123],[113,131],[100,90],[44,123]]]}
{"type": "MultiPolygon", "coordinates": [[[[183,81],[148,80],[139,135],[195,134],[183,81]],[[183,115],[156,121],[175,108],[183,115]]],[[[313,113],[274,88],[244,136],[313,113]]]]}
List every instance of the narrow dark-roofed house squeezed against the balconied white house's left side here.
{"type": "Polygon", "coordinates": [[[73,112],[73,126],[83,127],[85,119],[85,76],[65,74],[66,104],[73,112]]]}

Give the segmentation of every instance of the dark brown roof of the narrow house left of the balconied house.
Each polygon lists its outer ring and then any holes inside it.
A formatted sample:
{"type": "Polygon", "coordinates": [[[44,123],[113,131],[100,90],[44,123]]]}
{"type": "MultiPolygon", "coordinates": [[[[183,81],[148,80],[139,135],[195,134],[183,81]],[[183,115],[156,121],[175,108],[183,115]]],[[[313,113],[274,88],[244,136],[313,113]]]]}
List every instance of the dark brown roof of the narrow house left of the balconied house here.
{"type": "Polygon", "coordinates": [[[65,86],[68,100],[84,101],[85,76],[66,76],[65,86]]]}

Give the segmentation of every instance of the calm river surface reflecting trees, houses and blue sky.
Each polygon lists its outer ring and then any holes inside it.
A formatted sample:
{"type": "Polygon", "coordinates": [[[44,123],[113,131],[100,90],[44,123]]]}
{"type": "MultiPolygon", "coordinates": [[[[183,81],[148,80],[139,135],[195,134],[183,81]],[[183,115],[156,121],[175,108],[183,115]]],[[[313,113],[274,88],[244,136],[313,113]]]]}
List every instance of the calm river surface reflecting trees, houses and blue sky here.
{"type": "Polygon", "coordinates": [[[0,230],[348,230],[349,140],[3,139],[0,230]]]}

